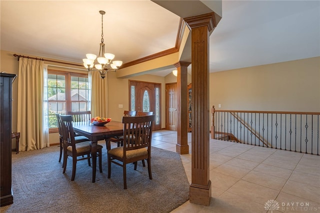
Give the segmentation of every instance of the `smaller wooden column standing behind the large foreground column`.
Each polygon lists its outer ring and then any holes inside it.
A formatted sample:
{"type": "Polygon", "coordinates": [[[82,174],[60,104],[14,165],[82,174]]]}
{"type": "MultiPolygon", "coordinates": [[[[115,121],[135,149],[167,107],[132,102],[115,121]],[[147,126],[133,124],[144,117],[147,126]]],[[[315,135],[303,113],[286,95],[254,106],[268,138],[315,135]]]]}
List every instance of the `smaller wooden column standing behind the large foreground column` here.
{"type": "Polygon", "coordinates": [[[179,61],[173,64],[177,70],[176,88],[177,88],[177,144],[175,150],[180,155],[189,153],[188,145],[188,92],[187,80],[188,73],[187,67],[190,62],[179,61]]]}

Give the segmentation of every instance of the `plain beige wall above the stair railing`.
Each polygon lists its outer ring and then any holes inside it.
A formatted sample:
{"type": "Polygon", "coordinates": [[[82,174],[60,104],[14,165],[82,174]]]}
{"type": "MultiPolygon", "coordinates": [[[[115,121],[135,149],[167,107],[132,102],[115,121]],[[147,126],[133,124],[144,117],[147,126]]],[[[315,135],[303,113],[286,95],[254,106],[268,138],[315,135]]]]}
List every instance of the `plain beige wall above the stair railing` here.
{"type": "Polygon", "coordinates": [[[215,109],[320,112],[320,57],[210,73],[209,97],[215,109]]]}

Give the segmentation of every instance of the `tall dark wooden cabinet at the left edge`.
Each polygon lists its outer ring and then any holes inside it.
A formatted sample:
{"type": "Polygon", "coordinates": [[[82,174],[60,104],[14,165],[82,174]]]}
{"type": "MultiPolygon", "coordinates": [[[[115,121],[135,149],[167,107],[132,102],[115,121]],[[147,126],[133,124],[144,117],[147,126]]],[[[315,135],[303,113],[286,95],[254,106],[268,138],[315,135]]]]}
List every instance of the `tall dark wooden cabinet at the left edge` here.
{"type": "Polygon", "coordinates": [[[0,73],[0,206],[13,203],[11,190],[11,105],[15,74],[0,73]]]}

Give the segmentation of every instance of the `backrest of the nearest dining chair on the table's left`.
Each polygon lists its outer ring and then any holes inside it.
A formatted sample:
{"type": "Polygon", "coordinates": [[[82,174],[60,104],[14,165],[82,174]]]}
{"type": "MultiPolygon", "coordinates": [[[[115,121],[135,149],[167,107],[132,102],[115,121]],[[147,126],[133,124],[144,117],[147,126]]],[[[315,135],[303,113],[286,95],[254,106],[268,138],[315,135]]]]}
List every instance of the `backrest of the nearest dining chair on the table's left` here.
{"type": "Polygon", "coordinates": [[[72,127],[71,115],[59,115],[61,120],[63,148],[72,146],[72,150],[75,150],[74,132],[72,127]]]}

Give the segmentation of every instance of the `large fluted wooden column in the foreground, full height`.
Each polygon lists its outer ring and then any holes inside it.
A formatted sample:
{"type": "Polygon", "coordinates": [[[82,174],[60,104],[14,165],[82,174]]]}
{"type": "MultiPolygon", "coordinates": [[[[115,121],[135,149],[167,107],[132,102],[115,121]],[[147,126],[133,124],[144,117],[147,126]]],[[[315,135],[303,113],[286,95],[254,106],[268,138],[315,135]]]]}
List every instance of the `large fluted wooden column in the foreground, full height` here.
{"type": "Polygon", "coordinates": [[[192,137],[190,203],[209,206],[209,33],[214,13],[184,18],[191,30],[192,137]]]}

